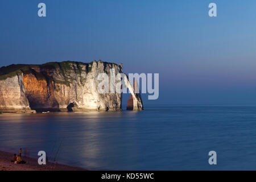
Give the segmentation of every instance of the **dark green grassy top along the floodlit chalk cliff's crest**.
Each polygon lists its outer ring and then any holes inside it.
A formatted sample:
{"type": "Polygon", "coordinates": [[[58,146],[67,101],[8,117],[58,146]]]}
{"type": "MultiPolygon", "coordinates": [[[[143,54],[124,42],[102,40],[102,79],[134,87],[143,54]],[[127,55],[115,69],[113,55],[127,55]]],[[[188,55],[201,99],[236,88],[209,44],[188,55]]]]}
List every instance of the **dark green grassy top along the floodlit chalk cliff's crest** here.
{"type": "MultiPolygon", "coordinates": [[[[95,61],[95,60],[94,60],[95,61]]],[[[115,63],[108,63],[101,60],[96,61],[96,63],[102,62],[106,64],[115,64],[115,63]]],[[[79,61],[62,61],[62,62],[49,62],[45,64],[11,64],[7,67],[1,67],[0,68],[0,80],[5,80],[9,77],[14,77],[15,75],[18,75],[20,73],[26,73],[30,72],[32,68],[51,68],[51,69],[60,69],[63,74],[65,71],[74,70],[75,68],[72,67],[72,65],[76,65],[75,71],[81,73],[81,66],[85,65],[87,68],[87,71],[90,72],[89,65],[92,65],[93,61],[90,63],[82,63],[79,61]]],[[[117,65],[117,64],[115,64],[117,65]]]]}

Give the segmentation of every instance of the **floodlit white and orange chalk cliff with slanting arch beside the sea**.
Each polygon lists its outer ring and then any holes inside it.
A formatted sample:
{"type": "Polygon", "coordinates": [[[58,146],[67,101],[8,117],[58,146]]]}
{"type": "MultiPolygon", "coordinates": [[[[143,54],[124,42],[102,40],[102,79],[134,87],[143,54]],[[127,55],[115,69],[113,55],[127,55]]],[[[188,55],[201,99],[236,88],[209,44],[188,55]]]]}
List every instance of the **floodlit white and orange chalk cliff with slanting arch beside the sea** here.
{"type": "MultiPolygon", "coordinates": [[[[37,110],[122,110],[122,93],[97,91],[100,73],[114,70],[122,73],[122,65],[93,61],[65,61],[43,65],[10,65],[0,68],[0,111],[37,110]]],[[[136,106],[142,110],[139,94],[135,94],[125,78],[136,106]]],[[[115,81],[117,83],[117,81],[115,81]]]]}

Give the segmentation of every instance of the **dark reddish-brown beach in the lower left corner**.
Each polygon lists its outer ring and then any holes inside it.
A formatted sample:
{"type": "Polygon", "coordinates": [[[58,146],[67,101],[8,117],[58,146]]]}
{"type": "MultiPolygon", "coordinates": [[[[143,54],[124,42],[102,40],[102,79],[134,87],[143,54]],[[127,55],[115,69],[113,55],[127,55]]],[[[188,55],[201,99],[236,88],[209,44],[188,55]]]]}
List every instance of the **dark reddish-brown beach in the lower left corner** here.
{"type": "Polygon", "coordinates": [[[14,164],[11,162],[13,154],[0,151],[0,171],[85,171],[79,167],[66,166],[63,164],[47,163],[39,165],[38,159],[22,157],[22,160],[27,161],[26,164],[14,164]]]}

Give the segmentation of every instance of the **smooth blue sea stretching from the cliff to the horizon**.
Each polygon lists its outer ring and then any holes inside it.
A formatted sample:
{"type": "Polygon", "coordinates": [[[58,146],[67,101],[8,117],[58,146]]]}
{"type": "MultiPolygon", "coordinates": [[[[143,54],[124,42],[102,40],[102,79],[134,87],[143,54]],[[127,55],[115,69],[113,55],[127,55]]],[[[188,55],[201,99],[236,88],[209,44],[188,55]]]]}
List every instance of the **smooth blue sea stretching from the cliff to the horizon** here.
{"type": "Polygon", "coordinates": [[[0,150],[49,155],[62,139],[59,162],[87,169],[255,170],[256,106],[0,115],[0,150]],[[208,164],[211,150],[216,166],[208,164]]]}

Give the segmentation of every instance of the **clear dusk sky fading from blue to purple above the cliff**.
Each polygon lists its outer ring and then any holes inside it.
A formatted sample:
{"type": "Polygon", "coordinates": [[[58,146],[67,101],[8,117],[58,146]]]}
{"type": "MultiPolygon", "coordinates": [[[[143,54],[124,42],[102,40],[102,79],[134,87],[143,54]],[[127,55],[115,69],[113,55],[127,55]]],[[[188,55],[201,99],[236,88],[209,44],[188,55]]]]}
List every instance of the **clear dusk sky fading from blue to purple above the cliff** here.
{"type": "Polygon", "coordinates": [[[256,1],[9,0],[0,14],[0,67],[101,59],[159,73],[148,104],[256,104],[256,1]]]}

